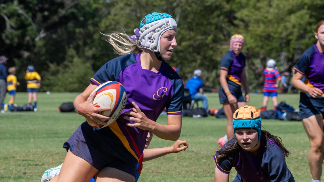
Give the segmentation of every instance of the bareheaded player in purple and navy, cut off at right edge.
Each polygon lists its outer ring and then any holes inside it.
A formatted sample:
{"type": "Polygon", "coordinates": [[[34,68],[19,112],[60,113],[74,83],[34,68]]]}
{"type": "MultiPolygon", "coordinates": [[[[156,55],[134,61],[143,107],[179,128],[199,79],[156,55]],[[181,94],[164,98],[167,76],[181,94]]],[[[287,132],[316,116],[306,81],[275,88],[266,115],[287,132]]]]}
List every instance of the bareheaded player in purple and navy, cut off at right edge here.
{"type": "Polygon", "coordinates": [[[313,182],[320,182],[324,145],[324,20],[318,22],[315,38],[317,43],[310,46],[297,61],[292,84],[301,91],[299,115],[310,142],[308,154],[310,172],[313,182]]]}

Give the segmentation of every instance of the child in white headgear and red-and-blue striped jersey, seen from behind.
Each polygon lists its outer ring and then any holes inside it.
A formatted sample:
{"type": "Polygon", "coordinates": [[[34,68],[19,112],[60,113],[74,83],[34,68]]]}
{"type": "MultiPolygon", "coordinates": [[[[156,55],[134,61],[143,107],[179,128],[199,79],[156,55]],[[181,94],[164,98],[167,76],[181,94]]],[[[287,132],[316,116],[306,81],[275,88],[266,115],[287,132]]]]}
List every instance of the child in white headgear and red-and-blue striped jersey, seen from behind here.
{"type": "Polygon", "coordinates": [[[281,81],[281,76],[278,70],[275,69],[276,61],[268,60],[267,67],[263,70],[264,87],[263,87],[263,105],[262,110],[267,110],[269,96],[272,98],[273,109],[277,110],[277,87],[281,81]],[[277,81],[277,83],[276,83],[277,81]]]}

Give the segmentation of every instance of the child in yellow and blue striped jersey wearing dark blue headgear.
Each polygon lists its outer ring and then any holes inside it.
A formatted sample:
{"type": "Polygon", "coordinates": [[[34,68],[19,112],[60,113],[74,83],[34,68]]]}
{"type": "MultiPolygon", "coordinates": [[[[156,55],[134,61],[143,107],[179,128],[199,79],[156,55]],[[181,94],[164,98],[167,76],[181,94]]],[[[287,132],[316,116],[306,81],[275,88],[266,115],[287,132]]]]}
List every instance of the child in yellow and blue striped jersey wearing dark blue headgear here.
{"type": "Polygon", "coordinates": [[[28,103],[31,105],[31,97],[34,100],[34,111],[37,111],[37,92],[41,86],[41,76],[35,72],[35,67],[27,67],[25,80],[27,81],[28,103]]]}

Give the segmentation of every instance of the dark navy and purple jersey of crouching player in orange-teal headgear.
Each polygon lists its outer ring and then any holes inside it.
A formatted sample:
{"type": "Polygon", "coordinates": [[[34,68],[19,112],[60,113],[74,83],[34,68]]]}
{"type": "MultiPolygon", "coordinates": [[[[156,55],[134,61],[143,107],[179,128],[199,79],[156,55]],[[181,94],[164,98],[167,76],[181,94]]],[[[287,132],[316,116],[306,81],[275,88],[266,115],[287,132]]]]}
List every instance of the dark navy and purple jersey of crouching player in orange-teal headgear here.
{"type": "MultiPolygon", "coordinates": [[[[234,138],[228,141],[221,150],[226,149],[235,140],[234,138]]],[[[217,168],[221,172],[229,174],[232,167],[235,167],[245,182],[292,181],[294,177],[286,165],[284,153],[279,146],[262,136],[260,142],[257,155],[252,155],[241,147],[219,160],[217,159],[219,153],[216,153],[214,160],[217,168]]]]}

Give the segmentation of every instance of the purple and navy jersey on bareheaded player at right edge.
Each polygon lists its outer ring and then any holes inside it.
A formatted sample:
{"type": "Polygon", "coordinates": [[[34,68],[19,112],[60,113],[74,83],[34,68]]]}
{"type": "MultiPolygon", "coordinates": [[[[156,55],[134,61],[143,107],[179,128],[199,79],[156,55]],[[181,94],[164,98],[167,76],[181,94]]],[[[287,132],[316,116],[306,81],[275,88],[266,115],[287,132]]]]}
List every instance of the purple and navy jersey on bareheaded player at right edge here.
{"type": "Polygon", "coordinates": [[[317,87],[324,92],[324,53],[318,51],[316,44],[302,54],[294,70],[306,77],[307,86],[317,87]]]}

